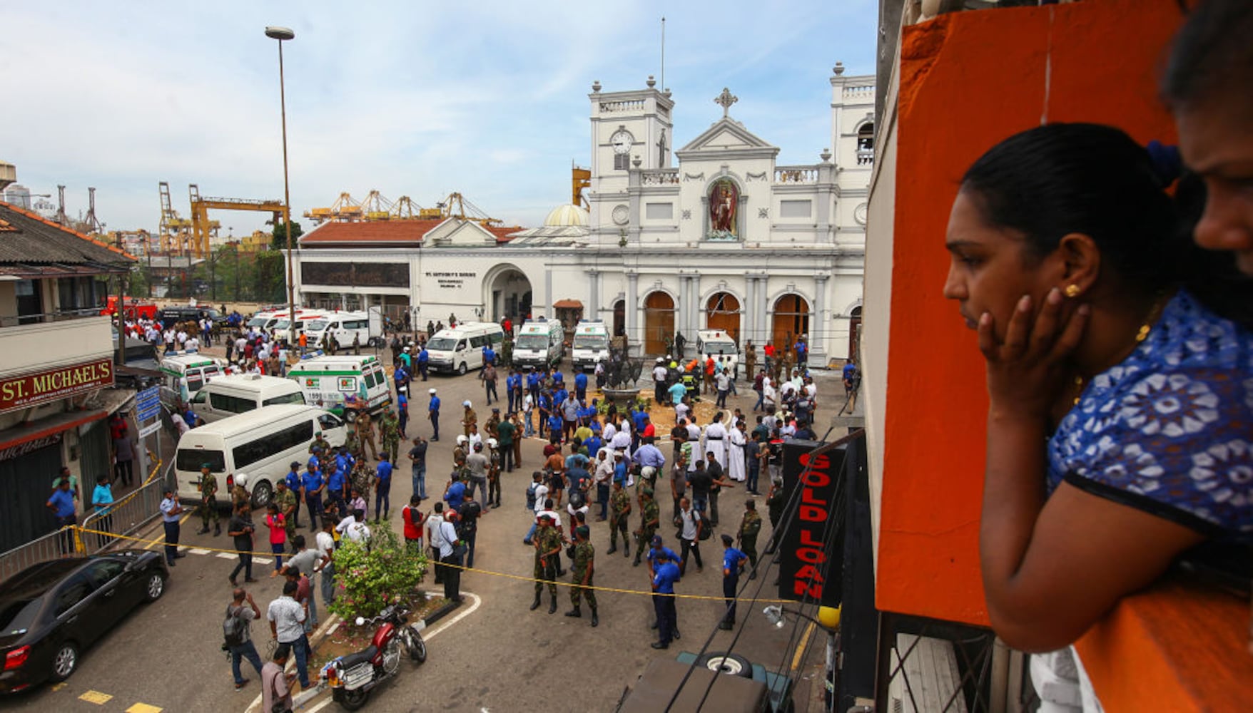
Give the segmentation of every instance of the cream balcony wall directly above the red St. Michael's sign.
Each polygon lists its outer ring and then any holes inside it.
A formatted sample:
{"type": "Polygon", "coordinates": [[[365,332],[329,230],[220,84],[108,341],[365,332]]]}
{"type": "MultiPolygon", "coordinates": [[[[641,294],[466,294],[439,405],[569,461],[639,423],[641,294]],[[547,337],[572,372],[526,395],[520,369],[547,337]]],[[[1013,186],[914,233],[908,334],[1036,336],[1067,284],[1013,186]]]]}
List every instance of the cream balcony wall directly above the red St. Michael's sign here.
{"type": "Polygon", "coordinates": [[[19,325],[0,316],[0,377],[108,357],[113,352],[113,326],[95,308],[91,315],[29,315],[51,321],[19,325]]]}

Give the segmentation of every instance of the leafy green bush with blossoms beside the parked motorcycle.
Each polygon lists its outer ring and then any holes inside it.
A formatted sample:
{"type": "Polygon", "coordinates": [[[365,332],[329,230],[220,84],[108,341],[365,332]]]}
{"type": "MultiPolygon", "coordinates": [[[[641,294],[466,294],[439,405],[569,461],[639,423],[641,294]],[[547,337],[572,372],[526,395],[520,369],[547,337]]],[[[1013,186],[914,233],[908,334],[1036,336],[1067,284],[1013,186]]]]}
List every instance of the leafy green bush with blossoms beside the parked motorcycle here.
{"type": "Polygon", "coordinates": [[[335,551],[335,576],[343,593],[331,612],[351,622],[376,617],[388,604],[405,601],[426,574],[426,555],[406,546],[391,528],[375,528],[368,543],[343,540],[335,551]]]}

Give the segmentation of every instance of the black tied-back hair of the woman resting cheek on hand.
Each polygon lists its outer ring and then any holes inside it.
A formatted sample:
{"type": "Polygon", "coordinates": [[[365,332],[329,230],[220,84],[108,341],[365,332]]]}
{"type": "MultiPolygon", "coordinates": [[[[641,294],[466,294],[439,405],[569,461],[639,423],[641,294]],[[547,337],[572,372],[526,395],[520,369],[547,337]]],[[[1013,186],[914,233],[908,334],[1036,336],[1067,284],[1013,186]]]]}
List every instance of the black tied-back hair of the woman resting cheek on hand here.
{"type": "Polygon", "coordinates": [[[1253,325],[1253,281],[1232,253],[1202,249],[1192,227],[1204,187],[1179,180],[1169,152],[1153,154],[1120,129],[1046,124],[1000,142],[966,170],[961,189],[990,224],[1022,233],[1030,257],[1044,257],[1069,233],[1095,241],[1121,287],[1144,293],[1185,287],[1208,308],[1253,325]]]}

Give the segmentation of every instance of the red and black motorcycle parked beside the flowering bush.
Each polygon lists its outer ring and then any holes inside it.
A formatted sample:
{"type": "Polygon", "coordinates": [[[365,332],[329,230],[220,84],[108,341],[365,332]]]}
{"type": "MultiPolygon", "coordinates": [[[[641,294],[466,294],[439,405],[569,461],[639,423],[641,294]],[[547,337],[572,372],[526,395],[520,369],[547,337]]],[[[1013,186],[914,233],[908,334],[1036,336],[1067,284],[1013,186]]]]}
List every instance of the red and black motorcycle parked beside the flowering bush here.
{"type": "MultiPolygon", "coordinates": [[[[421,664],[426,660],[422,629],[426,622],[410,624],[408,609],[387,606],[370,623],[381,623],[365,649],[338,657],[322,667],[320,678],[331,688],[331,697],[347,710],[357,710],[370,699],[370,692],[400,672],[400,659],[408,655],[421,664]]],[[[357,617],[357,625],[366,619],[357,617]]]]}

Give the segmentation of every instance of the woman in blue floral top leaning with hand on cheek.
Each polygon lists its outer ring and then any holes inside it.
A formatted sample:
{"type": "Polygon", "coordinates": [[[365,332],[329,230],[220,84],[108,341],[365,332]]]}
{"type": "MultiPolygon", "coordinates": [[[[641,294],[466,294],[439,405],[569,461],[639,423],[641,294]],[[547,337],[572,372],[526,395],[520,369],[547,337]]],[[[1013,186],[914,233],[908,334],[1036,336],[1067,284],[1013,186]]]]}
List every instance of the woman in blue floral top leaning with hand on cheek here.
{"type": "Polygon", "coordinates": [[[1253,301],[1210,289],[1239,277],[1229,254],[1188,274],[1202,251],[1157,168],[1118,129],[1050,124],[984,154],[952,206],[944,292],[987,363],[984,589],[1022,650],[1253,536],[1253,301]]]}

